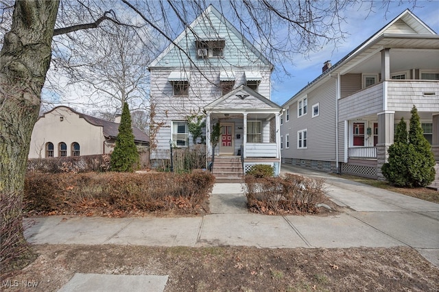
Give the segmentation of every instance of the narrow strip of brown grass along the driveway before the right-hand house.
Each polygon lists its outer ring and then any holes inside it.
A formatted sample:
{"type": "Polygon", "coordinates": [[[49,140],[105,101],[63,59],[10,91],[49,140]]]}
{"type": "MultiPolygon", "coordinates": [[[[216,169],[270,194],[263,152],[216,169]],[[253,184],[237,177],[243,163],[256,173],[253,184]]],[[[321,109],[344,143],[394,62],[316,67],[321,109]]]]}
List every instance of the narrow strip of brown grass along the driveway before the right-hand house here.
{"type": "Polygon", "coordinates": [[[397,188],[391,186],[388,182],[381,180],[373,180],[371,178],[361,178],[355,175],[342,174],[337,175],[346,180],[353,180],[354,182],[361,182],[361,184],[368,184],[377,188],[383,188],[388,191],[400,193],[403,195],[410,195],[410,197],[417,197],[418,199],[424,199],[425,201],[434,202],[439,204],[439,191],[435,191],[431,188],[397,188]]]}

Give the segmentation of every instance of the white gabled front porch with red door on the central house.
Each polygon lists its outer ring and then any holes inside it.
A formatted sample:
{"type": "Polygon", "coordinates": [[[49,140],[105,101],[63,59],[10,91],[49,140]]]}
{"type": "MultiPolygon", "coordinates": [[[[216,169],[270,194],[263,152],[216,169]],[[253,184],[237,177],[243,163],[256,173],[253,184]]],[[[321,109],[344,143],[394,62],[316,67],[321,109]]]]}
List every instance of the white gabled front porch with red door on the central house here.
{"type": "Polygon", "coordinates": [[[241,175],[256,164],[271,165],[278,175],[281,162],[280,106],[246,86],[239,86],[204,110],[208,159],[212,154],[219,158],[235,156],[235,161],[239,160],[241,164],[241,175]],[[217,123],[220,126],[219,143],[213,149],[211,132],[217,123]]]}

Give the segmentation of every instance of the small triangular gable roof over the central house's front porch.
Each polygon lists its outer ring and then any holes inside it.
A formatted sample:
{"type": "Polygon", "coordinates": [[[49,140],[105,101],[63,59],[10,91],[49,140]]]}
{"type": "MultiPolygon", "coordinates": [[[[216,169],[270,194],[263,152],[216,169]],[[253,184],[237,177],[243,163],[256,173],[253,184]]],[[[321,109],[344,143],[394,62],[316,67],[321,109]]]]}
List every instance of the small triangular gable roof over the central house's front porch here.
{"type": "Polygon", "coordinates": [[[280,112],[282,110],[281,106],[245,85],[238,86],[230,93],[219,97],[219,99],[205,106],[204,109],[211,112],[223,112],[224,110],[231,112],[280,112]]]}

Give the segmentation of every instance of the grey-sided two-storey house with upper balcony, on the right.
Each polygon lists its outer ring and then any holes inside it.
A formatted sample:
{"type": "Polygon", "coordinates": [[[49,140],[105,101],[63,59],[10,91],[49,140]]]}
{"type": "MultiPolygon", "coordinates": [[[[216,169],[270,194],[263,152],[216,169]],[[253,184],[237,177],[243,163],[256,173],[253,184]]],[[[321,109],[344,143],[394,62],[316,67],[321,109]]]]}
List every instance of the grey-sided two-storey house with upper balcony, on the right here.
{"type": "Polygon", "coordinates": [[[382,178],[413,106],[439,160],[439,36],[410,10],[322,71],[283,105],[283,162],[382,178]]]}

